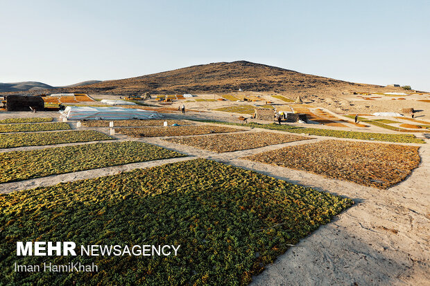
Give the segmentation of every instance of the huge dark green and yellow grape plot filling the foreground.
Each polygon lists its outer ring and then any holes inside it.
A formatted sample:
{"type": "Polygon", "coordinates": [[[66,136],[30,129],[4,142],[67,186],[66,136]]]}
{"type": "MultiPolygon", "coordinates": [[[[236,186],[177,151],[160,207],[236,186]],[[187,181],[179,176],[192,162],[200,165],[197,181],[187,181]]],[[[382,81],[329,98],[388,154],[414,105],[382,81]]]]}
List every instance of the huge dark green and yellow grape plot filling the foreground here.
{"type": "Polygon", "coordinates": [[[352,200],[205,159],[0,195],[0,281],[246,285],[352,200]],[[162,178],[162,179],[160,179],[162,178]],[[180,245],[178,256],[16,256],[17,241],[180,245]],[[83,262],[98,272],[15,272],[83,262]]]}

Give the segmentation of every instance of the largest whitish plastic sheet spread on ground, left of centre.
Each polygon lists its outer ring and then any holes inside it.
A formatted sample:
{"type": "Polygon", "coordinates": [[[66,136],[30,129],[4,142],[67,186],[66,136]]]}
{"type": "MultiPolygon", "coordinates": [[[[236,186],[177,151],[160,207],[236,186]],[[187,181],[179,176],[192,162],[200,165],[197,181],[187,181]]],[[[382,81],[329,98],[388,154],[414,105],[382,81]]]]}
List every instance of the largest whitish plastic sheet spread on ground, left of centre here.
{"type": "Polygon", "coordinates": [[[159,119],[163,116],[157,111],[122,107],[76,107],[68,106],[60,111],[69,120],[81,119],[159,119]]]}

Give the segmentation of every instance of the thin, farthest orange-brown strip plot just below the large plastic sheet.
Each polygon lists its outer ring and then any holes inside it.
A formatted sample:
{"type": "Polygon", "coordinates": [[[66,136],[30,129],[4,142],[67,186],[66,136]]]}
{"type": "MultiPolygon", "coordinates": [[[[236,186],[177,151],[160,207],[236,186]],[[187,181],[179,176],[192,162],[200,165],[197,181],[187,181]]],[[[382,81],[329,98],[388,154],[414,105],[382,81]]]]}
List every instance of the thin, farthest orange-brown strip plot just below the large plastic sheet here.
{"type": "Polygon", "coordinates": [[[185,136],[211,133],[238,132],[243,129],[232,127],[197,125],[197,126],[167,126],[167,127],[131,127],[116,128],[117,132],[132,137],[185,136]]]}

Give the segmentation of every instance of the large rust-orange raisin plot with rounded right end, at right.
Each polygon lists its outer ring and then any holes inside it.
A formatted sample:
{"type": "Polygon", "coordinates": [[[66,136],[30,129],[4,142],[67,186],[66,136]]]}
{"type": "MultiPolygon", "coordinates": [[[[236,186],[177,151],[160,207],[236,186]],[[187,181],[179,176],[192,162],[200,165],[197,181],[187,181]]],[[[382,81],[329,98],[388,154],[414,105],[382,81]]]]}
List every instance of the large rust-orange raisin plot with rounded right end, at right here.
{"type": "Polygon", "coordinates": [[[389,188],[420,164],[418,147],[327,140],[246,157],[365,186],[389,188]]]}

